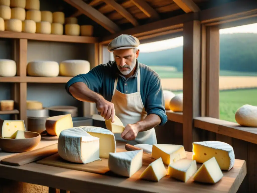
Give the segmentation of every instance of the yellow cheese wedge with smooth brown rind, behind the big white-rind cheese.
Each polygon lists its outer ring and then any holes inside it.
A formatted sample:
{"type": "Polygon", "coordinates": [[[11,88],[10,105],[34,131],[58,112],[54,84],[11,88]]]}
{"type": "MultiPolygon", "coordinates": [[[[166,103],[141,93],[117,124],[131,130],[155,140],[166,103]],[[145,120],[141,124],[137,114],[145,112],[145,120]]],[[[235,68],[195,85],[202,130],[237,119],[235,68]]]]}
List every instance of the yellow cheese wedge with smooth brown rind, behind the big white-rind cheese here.
{"type": "Polygon", "coordinates": [[[45,129],[47,133],[53,136],[59,136],[62,130],[73,127],[71,114],[58,115],[47,118],[45,121],[45,129]]]}

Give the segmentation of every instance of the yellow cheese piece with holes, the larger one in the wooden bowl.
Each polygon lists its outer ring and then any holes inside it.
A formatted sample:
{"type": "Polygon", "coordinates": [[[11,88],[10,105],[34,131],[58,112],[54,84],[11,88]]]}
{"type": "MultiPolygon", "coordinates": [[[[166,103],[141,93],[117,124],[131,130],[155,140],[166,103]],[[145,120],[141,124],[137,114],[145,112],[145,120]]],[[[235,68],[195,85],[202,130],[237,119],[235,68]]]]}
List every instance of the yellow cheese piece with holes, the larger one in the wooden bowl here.
{"type": "Polygon", "coordinates": [[[17,130],[26,131],[24,120],[4,120],[2,137],[10,138],[17,130]]]}

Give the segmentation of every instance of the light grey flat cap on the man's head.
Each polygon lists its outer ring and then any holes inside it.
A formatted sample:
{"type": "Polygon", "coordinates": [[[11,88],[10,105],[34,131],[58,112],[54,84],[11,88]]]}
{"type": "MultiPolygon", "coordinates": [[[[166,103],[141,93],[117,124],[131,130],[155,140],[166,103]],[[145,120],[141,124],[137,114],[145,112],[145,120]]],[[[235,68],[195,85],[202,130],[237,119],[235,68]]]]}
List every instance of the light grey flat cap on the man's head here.
{"type": "Polygon", "coordinates": [[[138,46],[139,40],[136,37],[127,34],[121,34],[109,43],[107,49],[112,52],[114,50],[136,48],[138,46]]]}

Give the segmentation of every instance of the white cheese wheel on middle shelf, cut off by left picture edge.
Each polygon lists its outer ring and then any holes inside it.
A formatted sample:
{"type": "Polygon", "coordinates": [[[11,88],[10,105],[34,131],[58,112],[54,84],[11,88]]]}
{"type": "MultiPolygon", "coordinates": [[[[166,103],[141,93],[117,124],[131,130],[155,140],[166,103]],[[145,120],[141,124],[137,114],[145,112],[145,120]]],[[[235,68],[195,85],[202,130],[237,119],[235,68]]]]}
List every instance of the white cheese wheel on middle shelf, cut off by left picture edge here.
{"type": "Polygon", "coordinates": [[[9,59],[0,59],[0,76],[15,76],[16,62],[9,59]]]}

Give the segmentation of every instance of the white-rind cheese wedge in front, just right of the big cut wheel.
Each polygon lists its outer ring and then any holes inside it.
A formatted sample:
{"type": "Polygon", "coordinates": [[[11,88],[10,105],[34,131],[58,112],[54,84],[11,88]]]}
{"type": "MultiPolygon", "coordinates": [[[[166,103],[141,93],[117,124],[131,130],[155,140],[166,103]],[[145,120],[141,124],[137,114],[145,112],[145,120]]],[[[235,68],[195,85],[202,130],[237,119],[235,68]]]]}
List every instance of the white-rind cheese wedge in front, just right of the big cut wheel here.
{"type": "Polygon", "coordinates": [[[131,177],[143,165],[143,150],[110,153],[108,167],[113,173],[131,177]]]}

